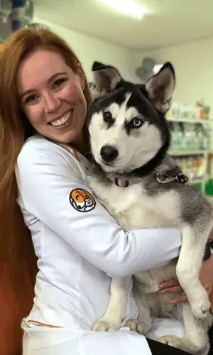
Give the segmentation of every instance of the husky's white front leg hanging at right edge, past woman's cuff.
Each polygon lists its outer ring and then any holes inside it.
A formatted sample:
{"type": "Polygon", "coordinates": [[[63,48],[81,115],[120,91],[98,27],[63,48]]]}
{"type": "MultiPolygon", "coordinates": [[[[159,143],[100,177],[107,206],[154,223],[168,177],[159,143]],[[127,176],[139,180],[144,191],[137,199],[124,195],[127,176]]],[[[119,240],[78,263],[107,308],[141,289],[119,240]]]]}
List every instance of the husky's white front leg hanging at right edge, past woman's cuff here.
{"type": "Polygon", "coordinates": [[[182,247],[176,267],[178,280],[192,307],[192,313],[197,318],[204,318],[209,312],[210,302],[206,290],[202,287],[198,278],[205,245],[210,231],[212,221],[206,226],[199,225],[198,221],[193,228],[185,225],[182,228],[182,247]]]}

